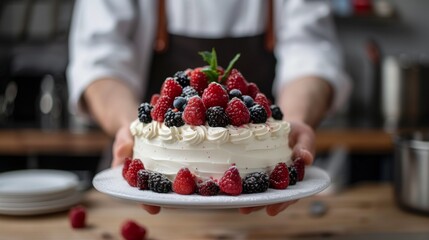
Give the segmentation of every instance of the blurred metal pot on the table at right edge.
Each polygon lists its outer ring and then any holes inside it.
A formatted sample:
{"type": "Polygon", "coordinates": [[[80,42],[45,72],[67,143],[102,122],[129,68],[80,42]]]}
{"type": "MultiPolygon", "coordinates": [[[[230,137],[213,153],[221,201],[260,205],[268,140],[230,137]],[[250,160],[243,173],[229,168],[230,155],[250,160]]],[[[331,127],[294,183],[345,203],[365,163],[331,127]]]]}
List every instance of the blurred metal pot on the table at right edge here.
{"type": "Polygon", "coordinates": [[[405,209],[429,214],[429,132],[395,139],[395,197],[405,209]]]}

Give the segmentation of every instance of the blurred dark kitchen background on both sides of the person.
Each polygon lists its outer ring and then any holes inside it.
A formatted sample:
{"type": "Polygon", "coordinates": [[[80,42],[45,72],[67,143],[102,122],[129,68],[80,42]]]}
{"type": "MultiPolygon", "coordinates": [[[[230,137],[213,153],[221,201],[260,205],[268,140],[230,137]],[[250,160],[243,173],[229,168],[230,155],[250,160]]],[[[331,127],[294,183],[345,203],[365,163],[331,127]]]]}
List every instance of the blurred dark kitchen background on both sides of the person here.
{"type": "MultiPolygon", "coordinates": [[[[429,1],[331,0],[353,81],[318,130],[316,165],[333,190],[393,179],[393,137],[429,125],[429,1]]],[[[73,0],[0,1],[0,172],[56,168],[91,179],[111,139],[70,113],[73,0]]]]}

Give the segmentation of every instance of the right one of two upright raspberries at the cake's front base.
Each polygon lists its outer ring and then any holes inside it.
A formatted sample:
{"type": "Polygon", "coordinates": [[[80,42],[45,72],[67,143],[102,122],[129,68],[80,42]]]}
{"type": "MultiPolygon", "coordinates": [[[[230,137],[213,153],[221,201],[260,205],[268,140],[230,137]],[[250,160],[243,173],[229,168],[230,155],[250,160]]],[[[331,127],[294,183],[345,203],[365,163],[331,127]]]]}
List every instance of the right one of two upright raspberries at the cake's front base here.
{"type": "Polygon", "coordinates": [[[240,173],[236,166],[231,166],[219,180],[219,188],[222,192],[237,196],[240,195],[243,190],[243,184],[241,181],[240,173]]]}

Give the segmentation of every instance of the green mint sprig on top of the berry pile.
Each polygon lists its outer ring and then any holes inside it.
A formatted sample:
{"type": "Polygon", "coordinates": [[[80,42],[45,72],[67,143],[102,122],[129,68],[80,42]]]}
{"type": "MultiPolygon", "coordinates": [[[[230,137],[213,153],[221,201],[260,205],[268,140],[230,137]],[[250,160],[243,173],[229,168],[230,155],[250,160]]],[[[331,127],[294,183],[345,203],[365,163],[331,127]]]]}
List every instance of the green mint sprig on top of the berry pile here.
{"type": "MultiPolygon", "coordinates": [[[[219,71],[217,69],[218,65],[217,65],[216,50],[213,48],[211,52],[203,51],[203,52],[198,52],[198,54],[200,54],[203,57],[203,60],[208,63],[208,66],[202,69],[202,72],[206,74],[210,82],[218,82],[219,71]]],[[[238,61],[239,58],[240,58],[240,54],[237,54],[229,62],[228,67],[222,76],[221,83],[223,83],[228,78],[232,68],[234,67],[234,64],[238,61]]]]}

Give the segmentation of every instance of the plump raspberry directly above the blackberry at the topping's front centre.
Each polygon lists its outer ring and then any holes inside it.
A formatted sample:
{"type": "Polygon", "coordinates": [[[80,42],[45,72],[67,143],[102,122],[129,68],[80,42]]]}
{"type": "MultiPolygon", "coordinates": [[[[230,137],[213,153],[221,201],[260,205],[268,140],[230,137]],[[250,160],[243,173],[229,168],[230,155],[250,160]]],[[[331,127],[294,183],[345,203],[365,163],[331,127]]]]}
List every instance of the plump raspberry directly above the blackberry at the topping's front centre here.
{"type": "Polygon", "coordinates": [[[226,108],[229,101],[228,93],[219,83],[215,82],[210,83],[209,86],[204,89],[201,98],[206,108],[215,106],[226,108]]]}

